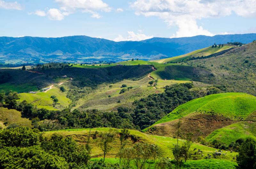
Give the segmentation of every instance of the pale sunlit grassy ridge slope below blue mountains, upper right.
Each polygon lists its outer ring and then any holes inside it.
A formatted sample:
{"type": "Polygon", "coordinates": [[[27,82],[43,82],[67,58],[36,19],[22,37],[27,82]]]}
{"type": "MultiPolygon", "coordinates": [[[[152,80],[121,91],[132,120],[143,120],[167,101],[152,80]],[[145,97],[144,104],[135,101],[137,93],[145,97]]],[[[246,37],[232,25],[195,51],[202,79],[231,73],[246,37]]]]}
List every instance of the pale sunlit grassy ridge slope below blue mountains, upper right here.
{"type": "Polygon", "coordinates": [[[199,49],[199,50],[195,50],[192,51],[190,53],[187,53],[185,55],[180,55],[180,56],[176,56],[176,57],[172,57],[172,58],[165,58],[165,59],[161,59],[161,60],[155,60],[155,62],[158,63],[164,63],[164,62],[178,62],[184,59],[188,59],[188,58],[193,58],[193,57],[201,57],[201,56],[209,56],[211,54],[214,53],[218,53],[222,50],[227,50],[230,48],[234,48],[233,46],[229,46],[229,45],[224,45],[223,47],[217,47],[217,48],[212,48],[212,46],[207,47],[207,48],[203,48],[203,49],[199,49]]]}

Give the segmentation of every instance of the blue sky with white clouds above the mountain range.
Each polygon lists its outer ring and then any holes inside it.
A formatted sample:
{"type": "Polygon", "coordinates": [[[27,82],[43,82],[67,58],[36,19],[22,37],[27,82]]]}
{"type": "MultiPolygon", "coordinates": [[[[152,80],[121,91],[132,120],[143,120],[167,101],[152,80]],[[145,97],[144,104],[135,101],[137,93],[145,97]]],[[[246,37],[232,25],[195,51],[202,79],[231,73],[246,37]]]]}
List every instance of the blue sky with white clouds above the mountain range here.
{"type": "Polygon", "coordinates": [[[256,33],[256,0],[0,0],[0,36],[114,41],[256,33]]]}

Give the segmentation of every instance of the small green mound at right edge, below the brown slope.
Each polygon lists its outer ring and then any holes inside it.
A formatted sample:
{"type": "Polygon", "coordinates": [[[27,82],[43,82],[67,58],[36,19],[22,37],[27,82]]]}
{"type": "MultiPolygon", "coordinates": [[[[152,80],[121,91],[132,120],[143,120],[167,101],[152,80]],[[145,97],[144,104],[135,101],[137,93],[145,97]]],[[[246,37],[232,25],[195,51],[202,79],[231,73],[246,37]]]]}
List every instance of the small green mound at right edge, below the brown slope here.
{"type": "Polygon", "coordinates": [[[224,142],[227,145],[229,145],[231,142],[235,142],[239,138],[246,139],[247,137],[252,137],[256,140],[255,135],[250,131],[250,125],[251,124],[248,122],[238,122],[213,131],[205,138],[205,140],[208,142],[219,140],[220,142],[224,142]]]}

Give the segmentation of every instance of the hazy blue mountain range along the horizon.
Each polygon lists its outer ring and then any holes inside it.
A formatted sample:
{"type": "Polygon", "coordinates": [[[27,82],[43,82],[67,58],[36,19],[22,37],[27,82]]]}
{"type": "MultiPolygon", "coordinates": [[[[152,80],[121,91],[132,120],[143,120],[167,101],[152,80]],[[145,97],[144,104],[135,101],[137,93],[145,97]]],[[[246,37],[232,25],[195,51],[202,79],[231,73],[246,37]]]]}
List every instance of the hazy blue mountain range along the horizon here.
{"type": "Polygon", "coordinates": [[[151,38],[139,42],[114,42],[88,36],[0,37],[0,63],[117,62],[131,58],[153,60],[182,55],[213,43],[249,43],[255,39],[256,34],[151,38]]]}

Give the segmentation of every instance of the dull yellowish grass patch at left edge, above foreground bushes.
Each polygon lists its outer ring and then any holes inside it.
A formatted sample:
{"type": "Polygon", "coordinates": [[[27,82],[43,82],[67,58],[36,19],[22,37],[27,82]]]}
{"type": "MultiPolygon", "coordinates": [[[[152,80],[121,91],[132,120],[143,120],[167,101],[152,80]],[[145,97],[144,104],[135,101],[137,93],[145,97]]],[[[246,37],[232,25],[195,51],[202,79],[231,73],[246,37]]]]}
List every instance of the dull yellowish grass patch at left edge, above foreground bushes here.
{"type": "Polygon", "coordinates": [[[5,122],[7,122],[7,126],[16,123],[20,126],[32,127],[29,119],[21,118],[20,111],[0,107],[0,126],[5,128],[6,126],[3,125],[5,122]]]}

